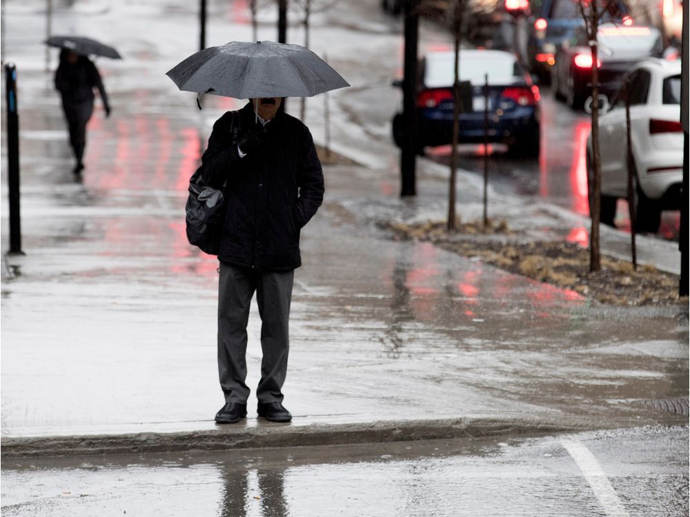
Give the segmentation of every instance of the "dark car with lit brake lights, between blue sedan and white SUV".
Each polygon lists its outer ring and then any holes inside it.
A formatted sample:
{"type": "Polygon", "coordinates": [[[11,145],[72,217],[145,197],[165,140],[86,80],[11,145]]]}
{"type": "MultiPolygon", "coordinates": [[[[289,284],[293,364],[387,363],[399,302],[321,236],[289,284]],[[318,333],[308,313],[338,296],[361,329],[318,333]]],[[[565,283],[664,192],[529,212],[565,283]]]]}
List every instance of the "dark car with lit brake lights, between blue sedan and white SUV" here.
{"type": "MultiPolygon", "coordinates": [[[[600,94],[611,99],[622,85],[629,68],[644,57],[660,57],[663,44],[660,32],[653,27],[621,26],[604,23],[597,35],[600,94]]],[[[591,97],[592,63],[589,38],[584,28],[563,43],[553,67],[553,92],[575,110],[591,97]]],[[[585,106],[587,108],[587,106],[585,106]]]]}

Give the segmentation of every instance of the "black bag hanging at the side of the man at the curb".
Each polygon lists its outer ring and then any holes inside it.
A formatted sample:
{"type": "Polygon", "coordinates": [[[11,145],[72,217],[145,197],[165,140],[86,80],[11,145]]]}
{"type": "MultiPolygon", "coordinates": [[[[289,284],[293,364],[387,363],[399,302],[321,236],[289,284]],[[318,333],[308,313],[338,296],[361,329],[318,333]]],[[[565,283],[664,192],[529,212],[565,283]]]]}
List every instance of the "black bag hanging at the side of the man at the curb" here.
{"type": "MultiPolygon", "coordinates": [[[[233,142],[237,145],[239,116],[233,115],[233,142]]],[[[225,183],[223,184],[223,190],[225,183]]],[[[199,167],[189,179],[189,196],[184,207],[186,211],[187,240],[209,255],[217,255],[220,233],[226,214],[224,192],[207,185],[199,167]]]]}

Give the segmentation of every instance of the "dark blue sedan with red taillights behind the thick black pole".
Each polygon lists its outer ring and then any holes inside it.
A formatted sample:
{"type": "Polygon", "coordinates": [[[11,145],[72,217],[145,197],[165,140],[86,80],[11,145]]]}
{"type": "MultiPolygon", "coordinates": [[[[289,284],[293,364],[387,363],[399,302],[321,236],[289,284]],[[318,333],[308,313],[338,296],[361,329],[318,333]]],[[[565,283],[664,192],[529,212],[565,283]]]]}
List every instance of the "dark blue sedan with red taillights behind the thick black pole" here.
{"type": "MultiPolygon", "coordinates": [[[[454,52],[432,52],[421,60],[417,91],[417,152],[447,145],[453,136],[454,52]]],[[[500,50],[460,50],[460,81],[466,106],[460,114],[460,142],[484,141],[484,74],[489,75],[489,142],[506,143],[514,154],[539,156],[539,88],[515,55],[500,50]]],[[[393,117],[393,139],[402,147],[402,113],[393,117]]]]}

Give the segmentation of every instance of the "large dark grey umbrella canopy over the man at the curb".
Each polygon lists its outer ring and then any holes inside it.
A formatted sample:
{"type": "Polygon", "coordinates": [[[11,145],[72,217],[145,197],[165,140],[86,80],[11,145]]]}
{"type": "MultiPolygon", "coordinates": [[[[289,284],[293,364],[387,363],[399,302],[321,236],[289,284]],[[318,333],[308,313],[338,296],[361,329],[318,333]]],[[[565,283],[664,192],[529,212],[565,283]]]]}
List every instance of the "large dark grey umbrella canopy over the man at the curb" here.
{"type": "Polygon", "coordinates": [[[311,50],[273,41],[205,48],[166,75],[180,90],[235,99],[312,97],[349,86],[311,50]]]}

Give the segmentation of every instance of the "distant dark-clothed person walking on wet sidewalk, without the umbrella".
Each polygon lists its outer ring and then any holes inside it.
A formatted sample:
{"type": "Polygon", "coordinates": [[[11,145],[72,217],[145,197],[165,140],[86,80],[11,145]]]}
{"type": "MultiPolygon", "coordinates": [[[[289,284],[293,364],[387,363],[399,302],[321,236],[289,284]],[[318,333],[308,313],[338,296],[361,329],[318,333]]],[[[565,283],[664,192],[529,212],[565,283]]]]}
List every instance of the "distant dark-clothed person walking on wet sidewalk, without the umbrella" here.
{"type": "Polygon", "coordinates": [[[62,109],[70,132],[70,145],[77,159],[75,174],[81,174],[84,168],[86,124],[93,113],[94,88],[98,88],[106,117],[110,116],[108,94],[96,65],[86,56],[80,56],[68,49],[61,50],[60,63],[55,71],[55,89],[62,97],[62,109]]]}

